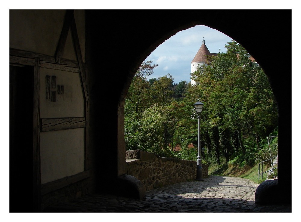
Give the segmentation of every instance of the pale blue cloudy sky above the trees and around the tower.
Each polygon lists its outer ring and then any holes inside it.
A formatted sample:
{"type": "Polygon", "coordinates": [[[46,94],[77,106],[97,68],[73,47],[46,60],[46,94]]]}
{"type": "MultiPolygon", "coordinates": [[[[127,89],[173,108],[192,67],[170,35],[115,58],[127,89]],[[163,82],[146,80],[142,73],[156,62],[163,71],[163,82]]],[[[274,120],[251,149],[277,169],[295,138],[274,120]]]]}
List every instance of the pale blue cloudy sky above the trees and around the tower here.
{"type": "Polygon", "coordinates": [[[174,83],[190,82],[191,61],[202,45],[202,41],[211,53],[226,52],[225,45],[231,38],[216,29],[207,26],[194,26],[178,32],[159,45],[145,61],[152,60],[158,64],[149,78],[159,78],[171,74],[174,83]]]}

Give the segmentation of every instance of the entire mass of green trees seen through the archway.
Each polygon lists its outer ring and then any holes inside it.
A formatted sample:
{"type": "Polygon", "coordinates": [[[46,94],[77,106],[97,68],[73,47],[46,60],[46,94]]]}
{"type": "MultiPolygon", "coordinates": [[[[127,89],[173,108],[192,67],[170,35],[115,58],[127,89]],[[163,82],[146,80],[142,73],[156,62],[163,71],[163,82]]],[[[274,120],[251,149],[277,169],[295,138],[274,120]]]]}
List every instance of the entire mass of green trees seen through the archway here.
{"type": "Polygon", "coordinates": [[[208,164],[253,164],[264,156],[260,153],[265,138],[277,134],[272,90],[261,67],[241,45],[232,41],[225,47],[226,53],[219,52],[192,74],[194,86],[186,81],[174,85],[171,74],[150,78],[157,65],[141,64],[126,98],[128,150],[195,160],[197,116],[192,104],[199,99],[204,103],[200,142],[208,164]],[[177,146],[182,149],[175,151],[177,146]]]}

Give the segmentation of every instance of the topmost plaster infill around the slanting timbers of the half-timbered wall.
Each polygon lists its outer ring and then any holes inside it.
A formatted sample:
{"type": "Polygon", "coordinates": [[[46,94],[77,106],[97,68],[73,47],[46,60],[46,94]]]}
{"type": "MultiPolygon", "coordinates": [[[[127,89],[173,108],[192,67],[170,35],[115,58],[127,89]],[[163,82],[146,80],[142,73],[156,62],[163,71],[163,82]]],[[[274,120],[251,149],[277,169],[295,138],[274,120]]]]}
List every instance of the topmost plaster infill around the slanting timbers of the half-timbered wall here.
{"type": "MultiPolygon", "coordinates": [[[[65,10],[10,10],[9,15],[10,48],[55,55],[65,10]]],[[[85,61],[85,11],[74,10],[74,17],[82,59],[85,61]]],[[[70,30],[62,58],[76,60],[70,30]]]]}

